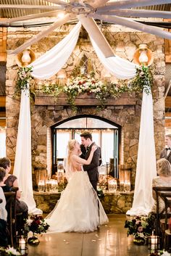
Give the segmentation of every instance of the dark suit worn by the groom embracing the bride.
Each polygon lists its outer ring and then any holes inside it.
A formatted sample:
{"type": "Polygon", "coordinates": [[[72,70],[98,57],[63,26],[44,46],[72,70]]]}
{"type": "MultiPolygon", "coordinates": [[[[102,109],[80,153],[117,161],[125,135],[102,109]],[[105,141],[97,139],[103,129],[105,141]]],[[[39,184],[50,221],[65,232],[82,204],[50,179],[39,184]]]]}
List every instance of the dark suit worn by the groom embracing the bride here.
{"type": "MultiPolygon", "coordinates": [[[[95,143],[93,142],[91,146],[93,146],[95,143]]],[[[85,159],[87,160],[90,153],[91,153],[91,146],[89,146],[88,151],[85,154],[85,159]]],[[[83,165],[83,169],[87,171],[88,177],[90,179],[90,182],[93,186],[93,189],[97,190],[97,183],[99,181],[99,158],[100,158],[101,150],[99,146],[93,153],[93,159],[91,160],[90,165],[83,165]]]]}

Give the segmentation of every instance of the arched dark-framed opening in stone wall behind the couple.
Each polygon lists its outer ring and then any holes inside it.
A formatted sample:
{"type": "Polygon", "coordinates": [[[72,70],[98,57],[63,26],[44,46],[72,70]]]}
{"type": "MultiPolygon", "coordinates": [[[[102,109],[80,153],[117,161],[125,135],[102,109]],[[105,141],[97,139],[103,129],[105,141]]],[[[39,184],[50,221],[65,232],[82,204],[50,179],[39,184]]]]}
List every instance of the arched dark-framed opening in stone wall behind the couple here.
{"type": "Polygon", "coordinates": [[[52,174],[56,173],[66,157],[67,142],[77,139],[80,133],[91,131],[93,141],[101,146],[102,164],[99,171],[119,178],[121,127],[110,120],[96,115],[78,115],[51,126],[52,174]]]}

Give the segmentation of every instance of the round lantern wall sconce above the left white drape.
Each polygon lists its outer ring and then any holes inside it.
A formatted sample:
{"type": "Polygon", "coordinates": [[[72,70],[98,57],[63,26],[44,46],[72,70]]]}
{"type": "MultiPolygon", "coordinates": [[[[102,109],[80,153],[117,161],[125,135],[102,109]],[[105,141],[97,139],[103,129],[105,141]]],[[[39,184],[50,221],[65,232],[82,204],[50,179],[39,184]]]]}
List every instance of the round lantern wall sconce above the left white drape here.
{"type": "Polygon", "coordinates": [[[20,52],[16,56],[16,62],[19,67],[27,67],[35,59],[36,59],[36,56],[35,56],[33,50],[31,50],[31,49],[25,49],[24,51],[20,52]]]}

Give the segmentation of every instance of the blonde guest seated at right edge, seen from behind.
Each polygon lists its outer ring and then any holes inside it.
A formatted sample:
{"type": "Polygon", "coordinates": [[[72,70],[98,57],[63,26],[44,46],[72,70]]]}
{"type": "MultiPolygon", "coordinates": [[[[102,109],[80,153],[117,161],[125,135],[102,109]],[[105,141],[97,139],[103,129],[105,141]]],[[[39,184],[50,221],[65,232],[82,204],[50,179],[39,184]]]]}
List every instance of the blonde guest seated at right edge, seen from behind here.
{"type": "MultiPolygon", "coordinates": [[[[170,162],[164,158],[157,161],[157,174],[158,176],[153,178],[152,187],[154,186],[171,186],[171,165],[170,162]]],[[[153,190],[153,198],[155,200],[154,207],[151,212],[157,211],[156,193],[153,190]]],[[[164,201],[159,197],[159,212],[164,210],[164,201]]]]}

